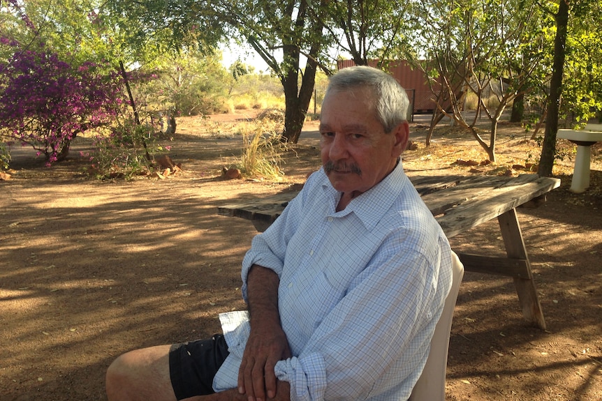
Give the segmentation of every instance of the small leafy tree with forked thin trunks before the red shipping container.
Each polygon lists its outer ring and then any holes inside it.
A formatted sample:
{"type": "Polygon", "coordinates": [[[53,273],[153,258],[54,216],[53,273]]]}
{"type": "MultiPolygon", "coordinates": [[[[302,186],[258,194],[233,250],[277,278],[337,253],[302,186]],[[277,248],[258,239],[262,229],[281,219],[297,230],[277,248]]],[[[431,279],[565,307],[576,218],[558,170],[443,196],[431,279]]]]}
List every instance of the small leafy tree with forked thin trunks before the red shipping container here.
{"type": "MultiPolygon", "coordinates": [[[[430,135],[443,116],[469,130],[495,160],[497,126],[513,100],[541,79],[541,50],[532,43],[538,10],[526,0],[423,1],[416,13],[416,47],[423,61],[413,60],[430,79],[437,99],[430,135]],[[477,99],[476,114],[468,119],[464,102],[477,99]],[[476,127],[485,114],[490,120],[489,141],[476,127]]],[[[411,57],[411,54],[409,54],[411,57]]],[[[430,138],[427,137],[427,141],[430,138]]]]}

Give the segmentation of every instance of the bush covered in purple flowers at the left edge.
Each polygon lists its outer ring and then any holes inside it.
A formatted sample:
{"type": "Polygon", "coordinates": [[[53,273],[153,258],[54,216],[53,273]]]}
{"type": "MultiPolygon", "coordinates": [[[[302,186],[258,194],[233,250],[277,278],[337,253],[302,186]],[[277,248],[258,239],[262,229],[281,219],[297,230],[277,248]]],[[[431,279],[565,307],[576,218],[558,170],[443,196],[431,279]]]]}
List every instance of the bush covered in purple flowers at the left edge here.
{"type": "Polygon", "coordinates": [[[33,146],[47,165],[66,158],[71,140],[113,121],[120,80],[94,63],[73,67],[57,54],[17,50],[0,63],[0,133],[33,146]]]}

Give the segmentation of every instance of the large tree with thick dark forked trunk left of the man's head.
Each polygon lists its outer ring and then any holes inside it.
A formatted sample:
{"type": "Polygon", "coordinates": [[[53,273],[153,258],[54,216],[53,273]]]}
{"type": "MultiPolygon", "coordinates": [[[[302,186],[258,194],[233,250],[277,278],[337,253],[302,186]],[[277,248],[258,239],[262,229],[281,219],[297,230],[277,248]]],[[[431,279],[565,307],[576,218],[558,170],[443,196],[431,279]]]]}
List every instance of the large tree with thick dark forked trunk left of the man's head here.
{"type": "MultiPolygon", "coordinates": [[[[315,10],[325,3],[318,2],[315,10]]],[[[310,12],[310,1],[110,0],[106,9],[126,17],[119,28],[133,47],[147,46],[144,39],[152,38],[171,49],[198,43],[201,52],[212,52],[226,33],[249,43],[284,88],[283,138],[298,141],[325,42],[322,19],[310,12]],[[302,56],[307,58],[304,68],[302,56]]]]}

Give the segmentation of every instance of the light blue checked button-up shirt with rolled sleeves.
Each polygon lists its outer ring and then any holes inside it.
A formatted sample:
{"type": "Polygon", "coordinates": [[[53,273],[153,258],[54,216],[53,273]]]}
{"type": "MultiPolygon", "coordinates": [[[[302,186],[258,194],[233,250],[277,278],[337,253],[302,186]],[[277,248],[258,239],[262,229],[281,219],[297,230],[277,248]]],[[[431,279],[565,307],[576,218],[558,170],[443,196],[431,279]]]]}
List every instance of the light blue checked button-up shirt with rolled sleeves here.
{"type": "MultiPolygon", "coordinates": [[[[407,400],[426,363],[451,286],[446,236],[399,162],[335,211],[341,194],[323,170],[263,234],[242,266],[280,278],[279,310],[292,358],[276,365],[291,400],[407,400]]],[[[230,355],[216,391],[236,388],[249,322],[220,316],[230,355]]]]}

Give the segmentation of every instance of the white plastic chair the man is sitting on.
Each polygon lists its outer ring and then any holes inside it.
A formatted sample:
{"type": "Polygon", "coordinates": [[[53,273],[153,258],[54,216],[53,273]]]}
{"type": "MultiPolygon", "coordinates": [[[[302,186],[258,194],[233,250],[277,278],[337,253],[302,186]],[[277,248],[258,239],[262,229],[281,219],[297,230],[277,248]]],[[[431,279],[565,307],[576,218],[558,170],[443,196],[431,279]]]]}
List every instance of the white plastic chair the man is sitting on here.
{"type": "Polygon", "coordinates": [[[452,252],[452,287],[446,298],[441,317],[435,326],[427,364],[412,389],[410,401],[443,401],[446,398],[446,368],[453,310],[464,276],[464,266],[452,252]]]}

